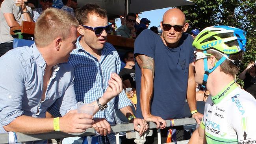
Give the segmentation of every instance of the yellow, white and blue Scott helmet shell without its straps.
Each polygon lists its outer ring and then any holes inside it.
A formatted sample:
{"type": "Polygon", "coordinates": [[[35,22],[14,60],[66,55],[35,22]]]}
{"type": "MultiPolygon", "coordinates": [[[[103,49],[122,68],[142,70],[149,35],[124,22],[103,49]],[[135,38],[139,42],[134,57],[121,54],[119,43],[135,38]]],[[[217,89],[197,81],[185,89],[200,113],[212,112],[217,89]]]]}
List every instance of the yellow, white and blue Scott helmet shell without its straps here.
{"type": "Polygon", "coordinates": [[[214,48],[224,54],[245,51],[246,32],[231,26],[211,26],[202,30],[193,42],[199,50],[214,48]]]}

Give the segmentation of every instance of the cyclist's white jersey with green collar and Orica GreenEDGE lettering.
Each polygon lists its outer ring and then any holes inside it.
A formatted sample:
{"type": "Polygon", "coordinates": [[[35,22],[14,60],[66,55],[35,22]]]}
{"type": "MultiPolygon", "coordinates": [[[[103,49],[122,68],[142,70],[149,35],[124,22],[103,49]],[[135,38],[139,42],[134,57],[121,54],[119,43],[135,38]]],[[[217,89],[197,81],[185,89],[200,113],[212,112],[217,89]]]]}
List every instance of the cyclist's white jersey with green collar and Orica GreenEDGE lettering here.
{"type": "Polygon", "coordinates": [[[207,144],[256,144],[256,100],[230,82],[206,100],[200,127],[207,144]]]}

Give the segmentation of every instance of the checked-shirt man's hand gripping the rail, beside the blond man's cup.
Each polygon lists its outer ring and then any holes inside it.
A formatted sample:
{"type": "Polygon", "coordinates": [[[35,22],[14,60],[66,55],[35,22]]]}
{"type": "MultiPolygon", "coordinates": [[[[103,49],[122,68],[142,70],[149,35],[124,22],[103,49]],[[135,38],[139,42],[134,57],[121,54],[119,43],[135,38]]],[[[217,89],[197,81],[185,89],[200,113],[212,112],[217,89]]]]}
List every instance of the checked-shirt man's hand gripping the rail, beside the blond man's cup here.
{"type": "Polygon", "coordinates": [[[111,131],[110,124],[105,118],[95,118],[93,127],[100,135],[104,136],[109,134],[111,131]]]}

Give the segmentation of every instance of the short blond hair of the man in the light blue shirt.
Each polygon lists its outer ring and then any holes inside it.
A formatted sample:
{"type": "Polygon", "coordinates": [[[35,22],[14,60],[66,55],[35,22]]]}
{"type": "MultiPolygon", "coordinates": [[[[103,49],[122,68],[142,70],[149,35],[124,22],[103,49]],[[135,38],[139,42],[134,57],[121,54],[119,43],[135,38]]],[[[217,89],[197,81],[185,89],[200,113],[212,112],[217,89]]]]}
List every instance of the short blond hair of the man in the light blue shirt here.
{"type": "Polygon", "coordinates": [[[46,47],[57,37],[69,37],[70,28],[78,27],[78,21],[68,12],[56,8],[46,9],[35,23],[35,44],[46,47]]]}

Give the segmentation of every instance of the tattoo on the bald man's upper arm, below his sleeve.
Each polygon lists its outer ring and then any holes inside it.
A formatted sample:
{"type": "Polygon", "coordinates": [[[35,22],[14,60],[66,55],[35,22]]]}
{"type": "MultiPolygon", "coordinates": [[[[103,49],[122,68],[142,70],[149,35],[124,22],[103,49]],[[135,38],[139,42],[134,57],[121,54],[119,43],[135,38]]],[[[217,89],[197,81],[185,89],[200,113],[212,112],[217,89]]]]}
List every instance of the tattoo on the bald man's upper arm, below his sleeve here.
{"type": "Polygon", "coordinates": [[[153,58],[148,57],[146,55],[138,55],[136,57],[136,60],[138,61],[138,64],[141,68],[151,70],[154,75],[155,63],[153,58]]]}

